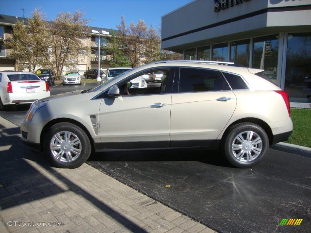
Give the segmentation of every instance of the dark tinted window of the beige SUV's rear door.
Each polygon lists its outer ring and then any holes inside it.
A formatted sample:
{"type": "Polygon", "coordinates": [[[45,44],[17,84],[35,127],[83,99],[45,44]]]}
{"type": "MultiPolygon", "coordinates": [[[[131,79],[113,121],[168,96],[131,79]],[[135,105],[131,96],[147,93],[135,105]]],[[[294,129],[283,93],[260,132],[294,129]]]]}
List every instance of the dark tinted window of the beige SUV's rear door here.
{"type": "Polygon", "coordinates": [[[219,71],[196,68],[180,68],[179,92],[230,90],[219,71]]]}

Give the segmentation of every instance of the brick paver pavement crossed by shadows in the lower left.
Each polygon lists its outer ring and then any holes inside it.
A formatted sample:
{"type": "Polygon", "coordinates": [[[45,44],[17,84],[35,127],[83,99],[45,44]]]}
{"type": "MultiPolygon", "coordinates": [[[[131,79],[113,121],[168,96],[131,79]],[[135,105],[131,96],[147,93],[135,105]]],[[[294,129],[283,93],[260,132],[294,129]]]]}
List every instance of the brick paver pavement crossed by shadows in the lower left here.
{"type": "Polygon", "coordinates": [[[19,127],[0,117],[1,231],[214,232],[87,164],[49,165],[21,143],[19,127]]]}

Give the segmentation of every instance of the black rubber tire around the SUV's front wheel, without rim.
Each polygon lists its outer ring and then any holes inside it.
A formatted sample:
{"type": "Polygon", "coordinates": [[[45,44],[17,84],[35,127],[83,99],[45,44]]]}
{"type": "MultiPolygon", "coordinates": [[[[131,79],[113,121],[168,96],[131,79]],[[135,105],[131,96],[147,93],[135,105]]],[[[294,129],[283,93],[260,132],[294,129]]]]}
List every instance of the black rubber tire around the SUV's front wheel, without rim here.
{"type": "MultiPolygon", "coordinates": [[[[62,134],[60,134],[62,135],[62,134]]],[[[91,142],[89,137],[86,135],[86,132],[82,130],[79,126],[68,123],[68,122],[61,122],[53,125],[49,130],[47,131],[45,137],[44,137],[44,142],[43,142],[43,148],[44,148],[44,153],[48,155],[48,157],[52,160],[53,164],[56,167],[60,168],[77,168],[80,167],[91,155],[91,142]],[[56,135],[59,132],[62,131],[69,131],[72,134],[75,134],[78,139],[81,142],[81,148],[79,147],[78,149],[81,150],[81,153],[77,158],[75,158],[73,161],[70,162],[63,162],[60,161],[59,159],[55,158],[53,153],[51,152],[50,149],[50,143],[54,135],[56,135]]],[[[80,146],[80,145],[78,145],[80,146]]],[[[56,151],[57,153],[58,151],[56,151]]],[[[74,155],[73,153],[71,153],[74,155]]],[[[63,156],[60,156],[62,159],[65,159],[63,156]]],[[[74,157],[73,157],[74,158],[74,157]]]]}

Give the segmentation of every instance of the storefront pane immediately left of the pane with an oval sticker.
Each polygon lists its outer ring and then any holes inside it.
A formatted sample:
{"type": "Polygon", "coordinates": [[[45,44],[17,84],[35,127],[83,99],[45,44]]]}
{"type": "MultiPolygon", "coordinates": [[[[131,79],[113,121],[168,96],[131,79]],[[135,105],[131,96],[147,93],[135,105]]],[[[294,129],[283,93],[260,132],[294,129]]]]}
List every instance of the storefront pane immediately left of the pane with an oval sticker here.
{"type": "Polygon", "coordinates": [[[250,40],[231,42],[230,62],[249,67],[250,40]]]}

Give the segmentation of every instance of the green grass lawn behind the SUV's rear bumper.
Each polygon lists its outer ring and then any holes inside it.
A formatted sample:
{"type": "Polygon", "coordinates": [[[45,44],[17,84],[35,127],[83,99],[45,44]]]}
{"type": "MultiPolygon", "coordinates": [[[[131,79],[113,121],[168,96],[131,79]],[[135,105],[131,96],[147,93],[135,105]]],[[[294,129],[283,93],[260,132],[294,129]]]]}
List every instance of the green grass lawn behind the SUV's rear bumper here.
{"type": "Polygon", "coordinates": [[[287,143],[311,147],[311,109],[291,108],[293,133],[287,143]]]}

